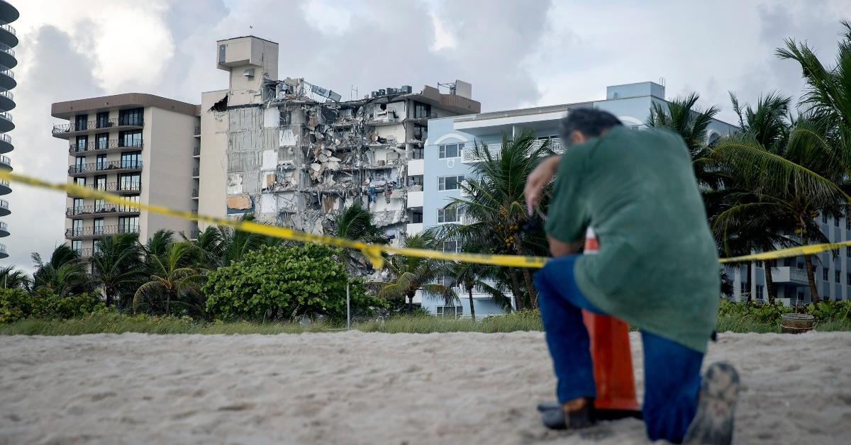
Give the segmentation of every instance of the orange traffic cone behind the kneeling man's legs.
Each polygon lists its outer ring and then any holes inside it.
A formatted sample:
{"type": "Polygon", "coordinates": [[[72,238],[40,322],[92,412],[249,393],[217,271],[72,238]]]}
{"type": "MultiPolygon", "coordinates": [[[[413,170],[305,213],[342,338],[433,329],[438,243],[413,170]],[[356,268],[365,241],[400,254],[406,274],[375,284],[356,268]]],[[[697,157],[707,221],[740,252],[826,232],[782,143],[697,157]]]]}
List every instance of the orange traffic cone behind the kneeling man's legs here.
{"type": "MultiPolygon", "coordinates": [[[[589,227],[585,232],[585,254],[594,254],[599,249],[597,235],[589,227]]],[[[591,311],[582,311],[582,318],[591,337],[591,360],[597,383],[595,408],[636,411],[629,327],[617,318],[591,311]]]]}

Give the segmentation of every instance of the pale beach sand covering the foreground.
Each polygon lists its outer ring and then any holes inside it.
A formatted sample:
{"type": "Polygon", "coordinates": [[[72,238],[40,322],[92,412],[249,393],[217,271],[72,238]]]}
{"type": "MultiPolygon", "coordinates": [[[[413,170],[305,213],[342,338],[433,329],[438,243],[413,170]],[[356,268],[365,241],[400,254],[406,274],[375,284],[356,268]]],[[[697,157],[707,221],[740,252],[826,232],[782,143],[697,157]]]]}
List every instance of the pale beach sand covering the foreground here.
{"type": "MultiPolygon", "coordinates": [[[[721,334],[717,360],[736,442],[851,441],[851,334],[721,334]]],[[[647,443],[546,431],[553,383],[540,333],[0,337],[0,443],[647,443]]]]}

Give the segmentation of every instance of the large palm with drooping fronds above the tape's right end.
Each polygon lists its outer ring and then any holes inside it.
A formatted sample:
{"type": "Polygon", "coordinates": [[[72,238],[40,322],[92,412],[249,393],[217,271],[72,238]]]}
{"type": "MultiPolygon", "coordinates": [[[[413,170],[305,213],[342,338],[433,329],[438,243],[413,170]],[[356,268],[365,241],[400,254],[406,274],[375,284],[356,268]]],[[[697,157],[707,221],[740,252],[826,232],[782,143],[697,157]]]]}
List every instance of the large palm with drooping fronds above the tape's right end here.
{"type": "MultiPolygon", "coordinates": [[[[713,156],[726,177],[736,178],[741,191],[730,195],[728,208],[717,215],[714,224],[752,231],[760,221],[771,220],[774,230],[795,227],[801,245],[824,242],[826,237],[814,218],[819,214],[842,217],[846,212],[851,203],[845,191],[848,170],[834,162],[823,128],[806,117],[791,122],[785,143],[771,150],[746,131],[717,142],[713,156]]],[[[772,227],[762,230],[771,231],[772,227]]],[[[806,255],[804,261],[810,294],[818,302],[812,258],[806,255]]]]}

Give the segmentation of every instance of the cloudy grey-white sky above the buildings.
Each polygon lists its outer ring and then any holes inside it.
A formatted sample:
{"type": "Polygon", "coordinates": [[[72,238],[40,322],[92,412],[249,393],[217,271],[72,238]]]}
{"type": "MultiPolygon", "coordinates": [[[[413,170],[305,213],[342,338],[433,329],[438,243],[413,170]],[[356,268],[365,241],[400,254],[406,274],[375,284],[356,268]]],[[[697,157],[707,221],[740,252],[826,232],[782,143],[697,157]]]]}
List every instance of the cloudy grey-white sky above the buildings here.
{"type": "MultiPolygon", "coordinates": [[[[483,111],[605,97],[607,85],[665,78],[734,122],[728,91],[797,98],[800,69],[777,60],[785,37],[833,60],[847,0],[10,0],[20,9],[19,81],[9,153],[16,172],[67,180],[67,143],[50,104],[143,92],[191,103],[227,87],[215,41],[280,43],[279,77],[366,94],[388,85],[473,84],[483,111]],[[487,6],[484,6],[487,5],[487,6]]],[[[65,197],[13,185],[0,264],[31,271],[31,252],[64,242],[65,197]]]]}

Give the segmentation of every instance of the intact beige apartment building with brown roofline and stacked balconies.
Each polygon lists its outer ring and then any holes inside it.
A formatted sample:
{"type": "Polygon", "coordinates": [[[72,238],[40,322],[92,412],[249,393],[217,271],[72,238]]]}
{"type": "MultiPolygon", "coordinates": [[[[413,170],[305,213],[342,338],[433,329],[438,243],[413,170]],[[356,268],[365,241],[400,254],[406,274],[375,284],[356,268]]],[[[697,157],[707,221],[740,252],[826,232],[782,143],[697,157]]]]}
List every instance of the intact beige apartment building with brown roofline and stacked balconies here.
{"type": "MultiPolygon", "coordinates": [[[[131,201],[197,211],[198,106],[151,94],[117,94],[54,103],[51,115],[69,122],[53,135],[68,141],[68,181],[131,201]]],[[[69,194],[65,237],[88,259],[97,239],[165,229],[197,231],[197,221],[69,194]]]]}

